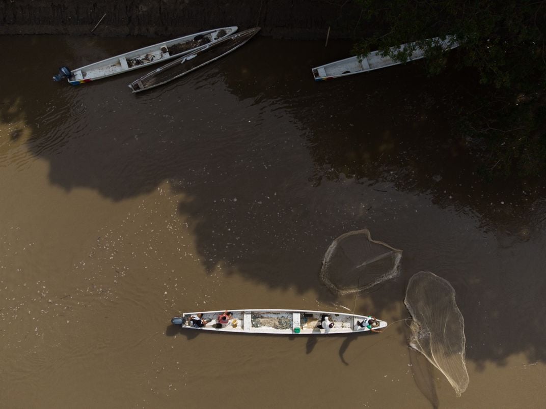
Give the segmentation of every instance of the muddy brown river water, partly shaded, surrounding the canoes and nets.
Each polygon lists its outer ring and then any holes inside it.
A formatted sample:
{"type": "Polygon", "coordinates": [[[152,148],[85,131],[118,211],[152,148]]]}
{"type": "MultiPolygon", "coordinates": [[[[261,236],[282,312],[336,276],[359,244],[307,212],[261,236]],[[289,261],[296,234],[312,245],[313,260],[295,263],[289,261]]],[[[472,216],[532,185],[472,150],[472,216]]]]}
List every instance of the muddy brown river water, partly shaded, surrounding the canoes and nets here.
{"type": "Polygon", "coordinates": [[[3,407],[536,407],[546,376],[546,203],[488,180],[453,132],[455,71],[420,63],[315,83],[350,44],[264,37],[134,95],[78,67],[145,38],[0,37],[3,407]],[[338,297],[324,252],[368,228],[399,278],[338,297]],[[465,318],[460,398],[408,348],[408,279],[448,280],[465,318]],[[197,333],[182,311],[373,314],[370,336],[197,333]],[[398,320],[402,320],[396,322],[398,320]]]}

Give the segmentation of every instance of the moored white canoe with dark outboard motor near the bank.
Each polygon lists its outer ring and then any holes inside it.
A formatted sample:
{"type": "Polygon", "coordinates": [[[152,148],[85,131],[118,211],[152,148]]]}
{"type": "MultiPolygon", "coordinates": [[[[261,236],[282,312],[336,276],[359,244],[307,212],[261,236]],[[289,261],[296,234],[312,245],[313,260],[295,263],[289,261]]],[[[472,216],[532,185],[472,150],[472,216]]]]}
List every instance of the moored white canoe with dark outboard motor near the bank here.
{"type": "Polygon", "coordinates": [[[186,35],[163,43],[153,44],[138,50],[129,51],[115,57],[110,57],[84,67],[69,70],[61,67],[59,75],[53,79],[60,81],[67,77],[72,85],[80,85],[90,81],[100,80],[112,75],[125,73],[152,64],[169,61],[173,58],[185,56],[200,47],[214,44],[224,37],[237,31],[236,26],[215,28],[200,33],[186,35]]]}

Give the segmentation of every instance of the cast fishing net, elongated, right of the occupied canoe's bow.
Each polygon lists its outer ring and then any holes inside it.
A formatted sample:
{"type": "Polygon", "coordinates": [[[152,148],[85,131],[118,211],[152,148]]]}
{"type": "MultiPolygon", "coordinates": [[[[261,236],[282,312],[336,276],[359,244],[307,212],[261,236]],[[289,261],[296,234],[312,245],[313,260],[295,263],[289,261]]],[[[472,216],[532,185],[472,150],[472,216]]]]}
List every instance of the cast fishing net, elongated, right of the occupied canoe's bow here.
{"type": "Polygon", "coordinates": [[[424,354],[455,389],[468,386],[465,364],[465,321],[455,303],[455,290],[431,272],[412,276],[404,300],[412,316],[410,346],[424,354]]]}

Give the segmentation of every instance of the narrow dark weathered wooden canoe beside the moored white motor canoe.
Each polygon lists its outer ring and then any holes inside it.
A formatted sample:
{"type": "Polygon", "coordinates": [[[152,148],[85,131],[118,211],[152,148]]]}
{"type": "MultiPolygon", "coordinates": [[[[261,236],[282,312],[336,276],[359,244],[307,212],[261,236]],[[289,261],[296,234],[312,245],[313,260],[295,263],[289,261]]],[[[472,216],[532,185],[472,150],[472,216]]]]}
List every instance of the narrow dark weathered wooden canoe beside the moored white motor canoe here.
{"type": "Polygon", "coordinates": [[[162,67],[140,77],[138,80],[130,83],[129,88],[133,92],[141,92],[176,80],[183,75],[191,73],[193,70],[203,67],[203,65],[216,61],[218,58],[235,51],[256,35],[258,31],[260,31],[259,27],[250,28],[222,38],[215,43],[209,43],[191,54],[162,65],[162,67]]]}

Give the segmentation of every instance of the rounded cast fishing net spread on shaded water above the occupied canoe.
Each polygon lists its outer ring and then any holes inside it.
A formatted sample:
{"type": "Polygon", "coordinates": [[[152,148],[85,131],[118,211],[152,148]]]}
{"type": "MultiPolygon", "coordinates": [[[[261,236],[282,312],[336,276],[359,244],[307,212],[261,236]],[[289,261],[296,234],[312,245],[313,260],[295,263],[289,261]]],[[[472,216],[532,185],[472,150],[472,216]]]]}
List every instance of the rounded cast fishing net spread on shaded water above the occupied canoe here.
{"type": "Polygon", "coordinates": [[[372,240],[367,229],[342,234],[324,255],[321,280],[330,290],[349,294],[400,274],[402,250],[372,240]]]}

